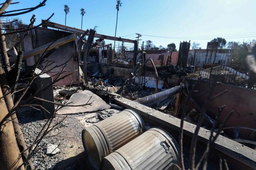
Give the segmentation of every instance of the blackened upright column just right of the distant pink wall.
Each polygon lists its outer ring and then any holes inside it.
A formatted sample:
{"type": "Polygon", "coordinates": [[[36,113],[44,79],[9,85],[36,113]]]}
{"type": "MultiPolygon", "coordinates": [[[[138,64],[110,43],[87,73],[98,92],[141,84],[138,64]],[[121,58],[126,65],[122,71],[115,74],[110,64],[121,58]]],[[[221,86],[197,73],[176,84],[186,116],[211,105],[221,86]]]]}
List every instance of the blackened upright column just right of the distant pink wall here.
{"type": "Polygon", "coordinates": [[[179,65],[180,68],[182,69],[185,69],[187,66],[189,49],[190,49],[190,42],[183,41],[183,43],[180,43],[177,65],[179,65]]]}

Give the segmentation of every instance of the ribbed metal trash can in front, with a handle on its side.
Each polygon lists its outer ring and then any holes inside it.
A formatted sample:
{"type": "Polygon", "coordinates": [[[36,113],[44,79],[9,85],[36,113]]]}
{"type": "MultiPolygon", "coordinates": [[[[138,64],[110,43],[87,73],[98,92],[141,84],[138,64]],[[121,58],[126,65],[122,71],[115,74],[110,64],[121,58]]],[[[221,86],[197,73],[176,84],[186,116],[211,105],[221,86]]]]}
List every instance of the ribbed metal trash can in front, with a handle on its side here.
{"type": "Polygon", "coordinates": [[[153,127],[109,154],[102,160],[102,170],[175,170],[180,166],[179,147],[172,136],[153,127]]]}

